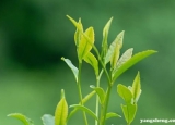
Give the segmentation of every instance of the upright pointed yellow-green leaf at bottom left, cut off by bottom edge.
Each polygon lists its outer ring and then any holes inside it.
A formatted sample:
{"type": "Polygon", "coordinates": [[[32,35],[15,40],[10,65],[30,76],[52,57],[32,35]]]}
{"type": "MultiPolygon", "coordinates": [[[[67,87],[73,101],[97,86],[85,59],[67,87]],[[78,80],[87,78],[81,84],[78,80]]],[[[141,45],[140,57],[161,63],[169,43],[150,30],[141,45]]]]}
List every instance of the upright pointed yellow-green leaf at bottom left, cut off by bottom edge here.
{"type": "Polygon", "coordinates": [[[68,104],[65,98],[65,92],[61,90],[61,99],[57,104],[55,112],[55,125],[66,125],[68,116],[68,104]]]}

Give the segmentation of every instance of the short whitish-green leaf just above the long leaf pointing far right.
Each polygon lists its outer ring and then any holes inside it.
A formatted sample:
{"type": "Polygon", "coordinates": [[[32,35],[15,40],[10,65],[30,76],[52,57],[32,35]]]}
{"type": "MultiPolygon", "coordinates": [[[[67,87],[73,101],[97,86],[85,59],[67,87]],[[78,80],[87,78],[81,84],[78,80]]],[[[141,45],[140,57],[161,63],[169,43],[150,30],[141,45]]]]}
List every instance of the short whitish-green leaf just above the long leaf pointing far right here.
{"type": "Polygon", "coordinates": [[[115,70],[119,68],[124,63],[126,63],[132,57],[132,51],[133,48],[130,48],[124,52],[124,54],[119,58],[117,62],[117,67],[115,70]]]}

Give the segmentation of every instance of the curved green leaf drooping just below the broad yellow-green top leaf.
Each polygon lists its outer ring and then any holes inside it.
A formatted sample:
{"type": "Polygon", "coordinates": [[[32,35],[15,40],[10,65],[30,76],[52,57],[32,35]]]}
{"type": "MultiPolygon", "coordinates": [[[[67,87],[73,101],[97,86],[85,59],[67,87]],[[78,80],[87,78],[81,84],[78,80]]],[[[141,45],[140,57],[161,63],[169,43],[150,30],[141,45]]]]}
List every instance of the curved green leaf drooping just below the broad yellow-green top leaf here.
{"type": "Polygon", "coordinates": [[[84,61],[93,66],[95,75],[98,76],[98,62],[96,58],[93,55],[93,53],[89,52],[85,55],[84,61]]]}

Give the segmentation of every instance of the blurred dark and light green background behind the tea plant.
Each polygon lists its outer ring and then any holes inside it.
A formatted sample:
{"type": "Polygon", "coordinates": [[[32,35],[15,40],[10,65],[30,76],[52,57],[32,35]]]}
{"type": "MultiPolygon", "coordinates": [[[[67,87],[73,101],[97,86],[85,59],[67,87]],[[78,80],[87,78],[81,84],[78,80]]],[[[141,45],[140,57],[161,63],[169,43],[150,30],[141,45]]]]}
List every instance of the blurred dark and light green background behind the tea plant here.
{"type": "MultiPolygon", "coordinates": [[[[84,28],[94,26],[95,45],[101,47],[102,29],[114,16],[108,41],[125,30],[122,52],[154,49],[159,53],[126,72],[115,84],[131,85],[141,72],[142,95],[133,125],[140,118],[175,118],[175,2],[174,0],[1,0],[0,1],[0,125],[22,125],[9,113],[20,112],[42,125],[45,113],[54,114],[65,88],[69,104],[78,102],[74,77],[60,60],[77,65],[73,35],[75,28],[66,17],[82,18],[84,28]]],[[[95,82],[93,70],[82,70],[83,95],[95,82]]],[[[102,80],[105,86],[106,79],[102,80]]],[[[122,100],[114,86],[109,109],[122,115],[122,100]]],[[[94,110],[94,98],[88,103],[94,110]]],[[[70,125],[83,125],[81,112],[70,125]],[[78,123],[80,122],[80,123],[78,123]]],[[[94,121],[89,117],[90,124],[94,121]]],[[[125,125],[110,118],[106,125],[125,125]]],[[[144,123],[145,125],[149,123],[144,123]]],[[[143,125],[144,125],[143,124],[143,125]]],[[[173,123],[172,123],[173,124],[173,123]]],[[[159,123],[164,125],[164,123],[159,123]]]]}

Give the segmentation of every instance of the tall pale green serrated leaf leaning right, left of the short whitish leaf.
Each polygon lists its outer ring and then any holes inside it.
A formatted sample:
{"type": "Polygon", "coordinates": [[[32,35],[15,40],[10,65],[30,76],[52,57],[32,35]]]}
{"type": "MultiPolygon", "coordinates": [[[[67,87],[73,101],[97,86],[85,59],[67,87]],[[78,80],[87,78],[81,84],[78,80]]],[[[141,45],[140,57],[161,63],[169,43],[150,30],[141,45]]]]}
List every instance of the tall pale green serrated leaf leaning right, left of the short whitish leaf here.
{"type": "Polygon", "coordinates": [[[122,38],[124,38],[124,30],[117,35],[116,39],[109,46],[109,49],[107,50],[105,57],[105,64],[107,64],[110,60],[113,60],[112,58],[114,58],[114,54],[116,54],[117,51],[120,50],[120,48],[122,47],[122,38]]]}

